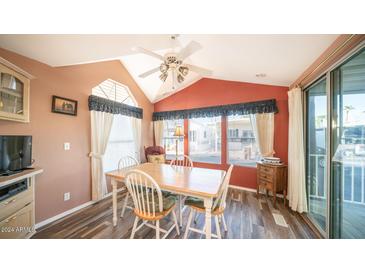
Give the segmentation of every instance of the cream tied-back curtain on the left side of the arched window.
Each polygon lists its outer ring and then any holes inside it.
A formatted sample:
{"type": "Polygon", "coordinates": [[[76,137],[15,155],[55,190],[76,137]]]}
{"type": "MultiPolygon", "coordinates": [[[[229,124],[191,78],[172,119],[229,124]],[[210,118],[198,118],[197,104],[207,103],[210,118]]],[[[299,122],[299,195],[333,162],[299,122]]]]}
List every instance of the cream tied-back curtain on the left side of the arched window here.
{"type": "Polygon", "coordinates": [[[103,156],[110,136],[114,115],[107,112],[91,111],[91,181],[92,199],[102,199],[107,194],[103,167],[103,156]]]}

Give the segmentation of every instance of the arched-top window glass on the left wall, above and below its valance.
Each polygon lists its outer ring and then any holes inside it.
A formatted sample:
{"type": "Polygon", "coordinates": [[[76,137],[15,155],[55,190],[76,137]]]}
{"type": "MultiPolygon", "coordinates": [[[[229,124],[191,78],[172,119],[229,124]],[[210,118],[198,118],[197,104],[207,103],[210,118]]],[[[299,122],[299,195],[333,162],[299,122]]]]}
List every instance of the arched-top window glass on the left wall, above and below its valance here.
{"type": "MultiPolygon", "coordinates": [[[[137,106],[137,102],[129,88],[114,80],[108,79],[92,89],[92,94],[118,103],[137,106]]],[[[138,159],[133,138],[132,118],[115,114],[109,136],[108,146],[104,154],[104,171],[118,168],[118,161],[123,156],[133,156],[138,159]]]]}

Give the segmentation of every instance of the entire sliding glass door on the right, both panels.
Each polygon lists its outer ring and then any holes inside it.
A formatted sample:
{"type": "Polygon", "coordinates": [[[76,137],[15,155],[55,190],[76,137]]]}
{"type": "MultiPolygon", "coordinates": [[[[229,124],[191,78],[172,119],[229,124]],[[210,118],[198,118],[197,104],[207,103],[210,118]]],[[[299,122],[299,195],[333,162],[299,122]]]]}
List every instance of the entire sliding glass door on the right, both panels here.
{"type": "Polygon", "coordinates": [[[364,239],[365,47],[305,99],[307,216],[325,236],[364,239]]]}

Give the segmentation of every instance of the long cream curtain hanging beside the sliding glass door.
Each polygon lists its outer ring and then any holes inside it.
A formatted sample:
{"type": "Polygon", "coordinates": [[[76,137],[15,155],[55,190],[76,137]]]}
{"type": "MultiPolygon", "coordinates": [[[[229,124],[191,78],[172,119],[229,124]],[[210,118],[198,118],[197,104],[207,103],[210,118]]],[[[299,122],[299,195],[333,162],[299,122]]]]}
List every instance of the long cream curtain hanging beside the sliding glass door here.
{"type": "Polygon", "coordinates": [[[292,210],[302,213],[307,212],[302,91],[300,88],[294,88],[288,92],[288,96],[288,199],[292,210]]]}

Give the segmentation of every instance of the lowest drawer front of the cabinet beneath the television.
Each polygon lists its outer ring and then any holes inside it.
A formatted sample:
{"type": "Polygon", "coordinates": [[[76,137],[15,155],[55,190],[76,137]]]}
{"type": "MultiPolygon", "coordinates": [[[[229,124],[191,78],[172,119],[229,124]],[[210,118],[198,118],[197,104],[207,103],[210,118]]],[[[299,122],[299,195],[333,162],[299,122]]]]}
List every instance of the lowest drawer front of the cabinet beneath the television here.
{"type": "Polygon", "coordinates": [[[33,203],[0,222],[0,239],[26,238],[34,230],[33,203]]]}

